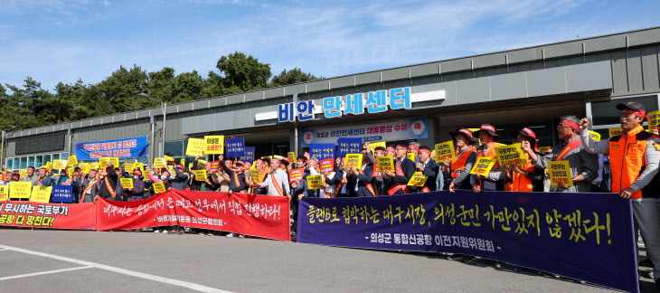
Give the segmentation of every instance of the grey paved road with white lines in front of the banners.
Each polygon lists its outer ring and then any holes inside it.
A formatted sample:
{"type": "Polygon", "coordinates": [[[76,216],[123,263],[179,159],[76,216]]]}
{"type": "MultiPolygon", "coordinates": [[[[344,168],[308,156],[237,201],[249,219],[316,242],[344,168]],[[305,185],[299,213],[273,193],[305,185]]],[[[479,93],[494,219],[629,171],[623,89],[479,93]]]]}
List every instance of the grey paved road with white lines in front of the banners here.
{"type": "Polygon", "coordinates": [[[197,234],[0,229],[0,260],[0,292],[611,292],[482,260],[197,234]]]}

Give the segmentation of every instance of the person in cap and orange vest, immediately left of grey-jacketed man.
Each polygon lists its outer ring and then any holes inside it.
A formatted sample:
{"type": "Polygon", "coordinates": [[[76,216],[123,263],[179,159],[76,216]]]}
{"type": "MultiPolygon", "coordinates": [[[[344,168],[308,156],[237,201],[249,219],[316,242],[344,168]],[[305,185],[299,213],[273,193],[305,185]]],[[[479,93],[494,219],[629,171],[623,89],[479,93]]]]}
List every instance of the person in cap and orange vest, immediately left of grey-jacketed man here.
{"type": "MultiPolygon", "coordinates": [[[[536,147],[536,134],[532,129],[523,128],[522,130],[512,132],[511,136],[515,138],[516,143],[520,144],[521,149],[523,147],[531,148],[534,150],[536,156],[541,156],[541,153],[539,153],[536,147]]],[[[506,176],[507,190],[514,192],[542,192],[545,171],[542,168],[532,165],[529,154],[524,153],[523,155],[527,160],[526,164],[511,165],[510,168],[503,169],[502,173],[506,176]]]]}

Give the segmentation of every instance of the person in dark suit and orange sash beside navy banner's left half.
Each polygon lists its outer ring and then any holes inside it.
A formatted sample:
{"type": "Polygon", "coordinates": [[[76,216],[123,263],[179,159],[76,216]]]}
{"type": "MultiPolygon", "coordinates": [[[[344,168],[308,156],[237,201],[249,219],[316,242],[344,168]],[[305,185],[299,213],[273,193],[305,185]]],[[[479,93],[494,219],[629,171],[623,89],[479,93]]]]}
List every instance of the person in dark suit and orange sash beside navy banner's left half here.
{"type": "Polygon", "coordinates": [[[398,145],[394,157],[394,172],[384,171],[384,189],[388,195],[410,194],[408,182],[415,173],[415,163],[408,159],[408,148],[398,145]]]}

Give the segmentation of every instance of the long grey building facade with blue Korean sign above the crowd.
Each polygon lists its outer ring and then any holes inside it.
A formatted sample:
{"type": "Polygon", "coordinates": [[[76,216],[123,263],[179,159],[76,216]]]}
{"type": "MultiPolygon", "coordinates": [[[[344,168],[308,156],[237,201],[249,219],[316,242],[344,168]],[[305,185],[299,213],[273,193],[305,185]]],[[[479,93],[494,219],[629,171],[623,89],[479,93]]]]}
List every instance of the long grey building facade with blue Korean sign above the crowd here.
{"type": "Polygon", "coordinates": [[[658,110],[659,51],[655,27],[169,105],[164,149],[160,108],[24,129],[5,133],[5,165],[40,166],[73,155],[76,143],[130,137],[147,137],[148,151],[126,161],[149,165],[163,154],[186,157],[187,138],[208,135],[245,137],[255,157],[301,154],[339,137],[432,148],[451,130],[483,123],[504,143],[512,130],[532,128],[550,147],[567,114],[592,119],[607,138],[618,128],[618,102],[658,110]]]}

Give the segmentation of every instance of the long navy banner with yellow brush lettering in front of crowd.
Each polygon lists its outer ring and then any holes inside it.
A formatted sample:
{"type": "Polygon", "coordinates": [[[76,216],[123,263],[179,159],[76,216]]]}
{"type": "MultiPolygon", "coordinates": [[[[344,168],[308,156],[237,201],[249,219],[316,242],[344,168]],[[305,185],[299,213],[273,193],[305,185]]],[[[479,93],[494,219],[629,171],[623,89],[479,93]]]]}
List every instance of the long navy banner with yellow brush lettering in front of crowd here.
{"type": "Polygon", "coordinates": [[[632,221],[618,194],[304,197],[297,242],[469,254],[636,292],[632,221]]]}

